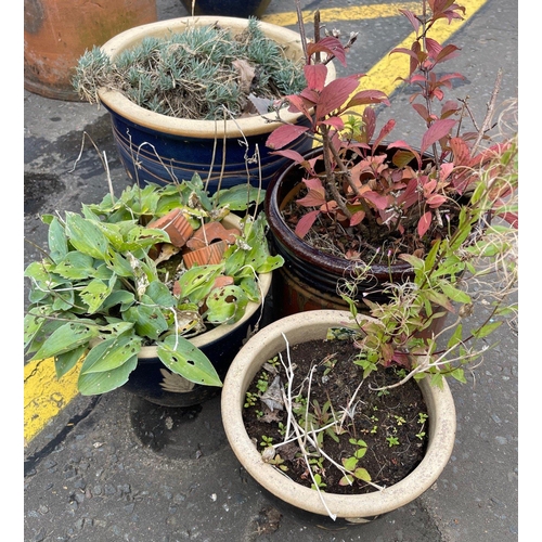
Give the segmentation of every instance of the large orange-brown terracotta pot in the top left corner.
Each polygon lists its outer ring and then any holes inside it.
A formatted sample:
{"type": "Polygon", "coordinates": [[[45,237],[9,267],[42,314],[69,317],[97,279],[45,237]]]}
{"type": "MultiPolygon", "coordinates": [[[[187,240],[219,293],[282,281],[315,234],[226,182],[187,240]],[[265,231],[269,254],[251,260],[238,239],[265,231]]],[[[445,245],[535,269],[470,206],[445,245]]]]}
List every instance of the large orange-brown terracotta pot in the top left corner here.
{"type": "Polygon", "coordinates": [[[78,101],[72,78],[79,56],[156,18],[156,0],[25,0],[25,89],[78,101]]]}

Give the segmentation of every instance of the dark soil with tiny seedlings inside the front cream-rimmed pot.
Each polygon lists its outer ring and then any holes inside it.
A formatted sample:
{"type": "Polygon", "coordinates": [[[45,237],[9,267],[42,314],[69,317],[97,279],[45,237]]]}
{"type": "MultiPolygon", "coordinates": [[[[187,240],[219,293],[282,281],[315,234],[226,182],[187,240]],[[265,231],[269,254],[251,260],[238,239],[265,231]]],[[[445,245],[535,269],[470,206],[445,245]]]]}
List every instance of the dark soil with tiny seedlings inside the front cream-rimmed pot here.
{"type": "MultiPolygon", "coordinates": [[[[310,380],[310,414],[305,416],[311,421],[312,427],[318,429],[330,426],[333,417],[341,418],[345,408],[356,411],[353,418],[345,417],[343,433],[333,429],[339,424],[322,431],[323,450],[340,464],[343,460],[360,454],[360,450],[364,448],[361,444],[363,441],[366,443],[366,451],[358,459],[356,466],[366,469],[372,483],[389,487],[408,476],[424,457],[427,446],[425,431],[428,430],[427,410],[420,387],[412,379],[387,392],[371,389],[399,382],[400,373],[397,367],[374,371],[354,396],[363,379],[363,370],[352,361],[357,353],[359,350],[349,340],[312,340],[291,347],[291,362],[296,367],[293,396],[301,393],[307,398],[309,378],[306,375],[315,365],[310,380]]],[[[282,359],[284,363],[288,363],[286,351],[282,352],[282,359]]],[[[259,451],[263,451],[270,442],[278,444],[284,441],[287,412],[278,409],[271,411],[262,401],[262,389],[268,387],[263,395],[266,398],[270,395],[269,388],[275,378],[272,367],[278,371],[282,385],[287,382],[280,358],[278,360],[271,365],[266,364],[257,373],[247,390],[243,410],[247,434],[259,451]]],[[[298,402],[299,412],[305,412],[306,402],[298,402]]],[[[314,452],[310,446],[309,450],[314,452]]],[[[296,440],[279,447],[271,463],[294,481],[311,487],[312,479],[296,440]]],[[[319,474],[322,483],[325,483],[321,489],[327,493],[359,494],[377,490],[361,479],[354,479],[351,486],[339,483],[344,474],[315,452],[310,455],[310,464],[313,473],[319,474]]]]}

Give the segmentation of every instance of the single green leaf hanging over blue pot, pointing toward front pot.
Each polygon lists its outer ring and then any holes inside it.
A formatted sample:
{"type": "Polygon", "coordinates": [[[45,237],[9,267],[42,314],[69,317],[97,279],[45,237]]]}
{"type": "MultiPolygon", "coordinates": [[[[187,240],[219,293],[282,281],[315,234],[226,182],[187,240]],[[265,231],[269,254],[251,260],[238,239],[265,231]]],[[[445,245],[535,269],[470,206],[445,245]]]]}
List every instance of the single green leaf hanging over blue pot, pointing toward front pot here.
{"type": "Polygon", "coordinates": [[[204,386],[222,386],[210,360],[183,337],[170,335],[158,344],[158,357],[173,373],[204,386]]]}

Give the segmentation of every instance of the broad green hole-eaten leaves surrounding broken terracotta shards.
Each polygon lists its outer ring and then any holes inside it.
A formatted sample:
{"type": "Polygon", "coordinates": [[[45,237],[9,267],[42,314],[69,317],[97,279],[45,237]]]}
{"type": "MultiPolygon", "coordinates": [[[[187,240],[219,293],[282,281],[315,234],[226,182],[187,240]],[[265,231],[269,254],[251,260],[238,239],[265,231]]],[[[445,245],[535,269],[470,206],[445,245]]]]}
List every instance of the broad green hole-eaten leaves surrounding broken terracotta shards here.
{"type": "Polygon", "coordinates": [[[236,322],[249,301],[261,301],[258,275],[282,264],[269,253],[264,217],[242,220],[242,235],[221,263],[184,272],[182,296],[173,296],[149,256],[153,245],[169,242],[168,234],[143,224],[182,207],[197,229],[261,197],[245,185],[209,195],[195,176],[180,184],[132,186],[118,199],[107,195],[100,204],[82,205],[80,214],[43,216],[47,256],[25,270],[31,301],[24,323],[26,353],[33,360],[54,358],[59,378],[83,357],[82,395],[125,384],[141,347],[150,344],[158,346],[159,359],[173,373],[221,386],[212,363],[186,337],[236,322]],[[214,288],[225,272],[234,284],[214,288]],[[207,311],[201,314],[204,302],[207,311]]]}

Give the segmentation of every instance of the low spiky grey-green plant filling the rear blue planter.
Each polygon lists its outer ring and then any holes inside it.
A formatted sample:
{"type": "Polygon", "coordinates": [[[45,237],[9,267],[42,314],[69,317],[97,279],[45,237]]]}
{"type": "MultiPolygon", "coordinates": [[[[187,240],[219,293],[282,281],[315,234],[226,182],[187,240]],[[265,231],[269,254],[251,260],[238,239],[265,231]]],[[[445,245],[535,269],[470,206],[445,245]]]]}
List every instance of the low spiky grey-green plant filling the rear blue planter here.
{"type": "Polygon", "coordinates": [[[178,118],[221,119],[268,112],[272,102],[302,88],[302,69],[258,21],[234,35],[219,24],[146,37],[115,60],[94,47],[79,59],[79,96],[100,103],[100,88],[122,92],[137,105],[178,118]]]}

